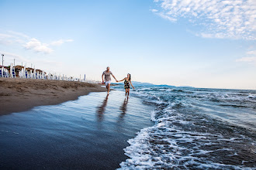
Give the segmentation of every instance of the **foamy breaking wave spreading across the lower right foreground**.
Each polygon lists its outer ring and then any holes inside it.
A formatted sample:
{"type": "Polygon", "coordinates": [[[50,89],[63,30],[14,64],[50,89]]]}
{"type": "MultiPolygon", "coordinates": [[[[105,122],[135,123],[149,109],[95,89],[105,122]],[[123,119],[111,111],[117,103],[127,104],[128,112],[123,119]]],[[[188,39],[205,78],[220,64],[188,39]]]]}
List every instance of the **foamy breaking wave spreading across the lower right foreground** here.
{"type": "Polygon", "coordinates": [[[242,135],[232,132],[216,132],[218,128],[209,126],[218,125],[216,121],[195,115],[184,117],[175,113],[174,107],[177,105],[151,113],[155,125],[142,129],[136,138],[128,141],[130,146],[124,151],[130,158],[120,164],[120,169],[244,169],[248,164],[237,164],[248,159],[254,161],[255,153],[251,151],[252,156],[248,158],[243,156],[248,152],[239,148],[243,144],[247,150],[246,145],[253,142],[251,138],[244,140],[242,135]],[[238,161],[234,162],[234,158],[238,161]]]}

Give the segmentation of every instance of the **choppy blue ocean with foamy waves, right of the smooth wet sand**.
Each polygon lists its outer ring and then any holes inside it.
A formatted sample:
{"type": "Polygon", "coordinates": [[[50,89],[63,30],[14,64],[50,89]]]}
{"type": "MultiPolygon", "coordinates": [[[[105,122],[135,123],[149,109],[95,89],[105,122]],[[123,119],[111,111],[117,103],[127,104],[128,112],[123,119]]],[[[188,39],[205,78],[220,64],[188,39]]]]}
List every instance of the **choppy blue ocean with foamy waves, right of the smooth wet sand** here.
{"type": "Polygon", "coordinates": [[[154,107],[154,125],[128,140],[120,169],[256,169],[256,90],[152,86],[130,95],[154,107]]]}

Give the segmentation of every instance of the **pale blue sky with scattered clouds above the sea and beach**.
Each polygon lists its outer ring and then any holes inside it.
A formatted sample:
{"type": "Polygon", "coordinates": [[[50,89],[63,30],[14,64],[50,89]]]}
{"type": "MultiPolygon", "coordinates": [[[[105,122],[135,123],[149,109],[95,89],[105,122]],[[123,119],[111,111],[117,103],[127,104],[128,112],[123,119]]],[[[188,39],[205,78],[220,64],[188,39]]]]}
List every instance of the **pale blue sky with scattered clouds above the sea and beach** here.
{"type": "Polygon", "coordinates": [[[0,12],[5,66],[256,90],[255,0],[0,0],[0,12]]]}

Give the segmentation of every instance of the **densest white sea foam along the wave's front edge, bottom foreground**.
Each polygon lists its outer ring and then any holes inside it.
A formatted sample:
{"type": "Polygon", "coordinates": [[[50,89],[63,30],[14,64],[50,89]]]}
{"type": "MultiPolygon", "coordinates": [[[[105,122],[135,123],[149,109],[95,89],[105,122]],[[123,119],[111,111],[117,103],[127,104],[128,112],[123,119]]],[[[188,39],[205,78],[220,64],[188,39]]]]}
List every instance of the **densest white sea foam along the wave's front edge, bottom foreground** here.
{"type": "MultiPolygon", "coordinates": [[[[202,149],[195,149],[192,151],[185,146],[180,145],[183,142],[193,142],[195,139],[206,139],[206,134],[192,134],[189,135],[185,131],[174,131],[171,133],[164,133],[160,130],[164,128],[164,123],[158,123],[150,128],[141,130],[136,138],[130,139],[129,147],[125,148],[125,155],[130,157],[126,162],[120,164],[119,169],[156,169],[156,168],[189,168],[197,169],[206,168],[234,168],[241,169],[239,166],[224,165],[215,163],[202,155],[208,155],[213,151],[206,151],[202,149]],[[157,138],[161,137],[161,138],[157,138]],[[170,138],[168,138],[170,136],[170,138]],[[188,154],[185,154],[188,153],[188,154]],[[199,157],[196,155],[200,155],[199,157]]],[[[207,134],[210,135],[210,134],[207,134]]],[[[223,148],[227,150],[227,148],[223,148]]],[[[234,154],[236,155],[236,154],[234,154]]],[[[231,156],[231,155],[229,155],[231,156]]]]}

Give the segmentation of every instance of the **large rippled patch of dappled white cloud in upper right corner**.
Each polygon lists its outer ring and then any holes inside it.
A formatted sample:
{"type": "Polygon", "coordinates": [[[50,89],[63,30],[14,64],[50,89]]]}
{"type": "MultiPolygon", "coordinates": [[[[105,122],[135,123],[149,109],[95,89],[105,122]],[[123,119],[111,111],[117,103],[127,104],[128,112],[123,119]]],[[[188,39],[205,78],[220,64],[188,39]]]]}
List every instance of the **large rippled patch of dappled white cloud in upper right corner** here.
{"type": "Polygon", "coordinates": [[[203,38],[256,39],[254,0],[154,0],[160,9],[151,11],[175,22],[187,18],[202,26],[203,38]],[[169,19],[170,18],[170,19],[169,19]]]}

